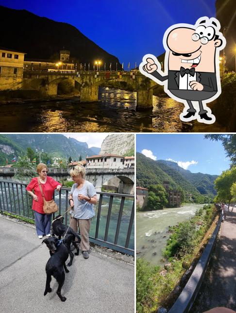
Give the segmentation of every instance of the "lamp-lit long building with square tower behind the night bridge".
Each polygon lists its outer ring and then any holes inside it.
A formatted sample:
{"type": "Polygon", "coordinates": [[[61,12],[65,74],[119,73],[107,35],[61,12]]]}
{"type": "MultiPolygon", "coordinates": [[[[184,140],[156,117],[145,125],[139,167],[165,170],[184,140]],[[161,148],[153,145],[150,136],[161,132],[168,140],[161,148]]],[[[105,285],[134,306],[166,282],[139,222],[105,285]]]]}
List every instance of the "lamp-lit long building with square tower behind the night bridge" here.
{"type": "Polygon", "coordinates": [[[58,60],[41,60],[41,59],[26,59],[24,61],[24,71],[75,71],[74,61],[69,60],[70,51],[60,50],[60,61],[58,60]]]}

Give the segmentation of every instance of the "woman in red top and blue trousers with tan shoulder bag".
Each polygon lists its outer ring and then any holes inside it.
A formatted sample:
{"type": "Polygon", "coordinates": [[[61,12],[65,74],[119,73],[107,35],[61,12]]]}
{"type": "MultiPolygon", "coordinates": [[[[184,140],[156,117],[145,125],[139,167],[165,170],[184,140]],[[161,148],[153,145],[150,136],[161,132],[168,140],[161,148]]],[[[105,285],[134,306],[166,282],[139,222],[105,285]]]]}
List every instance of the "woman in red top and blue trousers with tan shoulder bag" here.
{"type": "MultiPolygon", "coordinates": [[[[53,197],[54,190],[56,189],[57,191],[60,191],[62,185],[58,181],[47,176],[47,165],[39,163],[37,165],[37,172],[45,200],[50,201],[53,197]]],[[[43,197],[39,189],[38,178],[34,177],[26,187],[26,190],[28,191],[28,194],[33,197],[32,210],[34,210],[36,231],[38,238],[42,239],[44,235],[47,237],[51,236],[51,214],[45,214],[43,212],[43,197]],[[32,190],[34,190],[34,193],[32,190]]]]}

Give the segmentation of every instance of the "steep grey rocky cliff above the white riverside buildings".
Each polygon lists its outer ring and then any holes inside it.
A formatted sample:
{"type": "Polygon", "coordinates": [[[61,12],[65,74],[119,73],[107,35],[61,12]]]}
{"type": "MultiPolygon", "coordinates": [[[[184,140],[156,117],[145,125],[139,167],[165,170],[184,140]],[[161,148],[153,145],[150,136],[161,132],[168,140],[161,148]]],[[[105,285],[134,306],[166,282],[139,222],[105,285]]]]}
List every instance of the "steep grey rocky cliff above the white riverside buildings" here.
{"type": "Polygon", "coordinates": [[[99,154],[118,154],[122,156],[135,155],[134,134],[111,134],[101,144],[99,154]]]}

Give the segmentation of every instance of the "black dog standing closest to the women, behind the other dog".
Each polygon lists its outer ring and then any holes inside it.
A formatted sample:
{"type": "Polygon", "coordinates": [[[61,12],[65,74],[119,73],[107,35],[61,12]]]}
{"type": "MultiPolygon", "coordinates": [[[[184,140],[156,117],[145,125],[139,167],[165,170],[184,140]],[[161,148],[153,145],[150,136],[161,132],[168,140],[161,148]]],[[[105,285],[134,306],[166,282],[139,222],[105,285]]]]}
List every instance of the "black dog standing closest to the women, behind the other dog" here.
{"type": "Polygon", "coordinates": [[[81,242],[80,236],[72,230],[71,227],[66,226],[63,224],[64,217],[62,215],[57,215],[52,222],[52,236],[58,236],[58,239],[61,239],[62,236],[67,232],[68,235],[73,235],[72,245],[76,249],[75,255],[79,255],[79,247],[77,246],[78,243],[81,242]],[[68,229],[68,231],[67,231],[68,229]],[[75,241],[75,237],[78,238],[78,241],[75,241]]]}

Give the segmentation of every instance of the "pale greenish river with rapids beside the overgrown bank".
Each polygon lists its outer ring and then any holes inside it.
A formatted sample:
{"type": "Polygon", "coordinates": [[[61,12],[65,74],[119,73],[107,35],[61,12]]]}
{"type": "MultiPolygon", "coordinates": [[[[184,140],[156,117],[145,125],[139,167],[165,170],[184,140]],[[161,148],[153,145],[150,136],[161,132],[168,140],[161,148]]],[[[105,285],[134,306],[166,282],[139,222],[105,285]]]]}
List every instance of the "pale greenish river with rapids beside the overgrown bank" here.
{"type": "Polygon", "coordinates": [[[203,204],[187,204],[181,208],[166,208],[158,211],[136,213],[136,251],[151,264],[163,265],[162,249],[166,246],[170,233],[169,225],[194,216],[203,204]]]}

